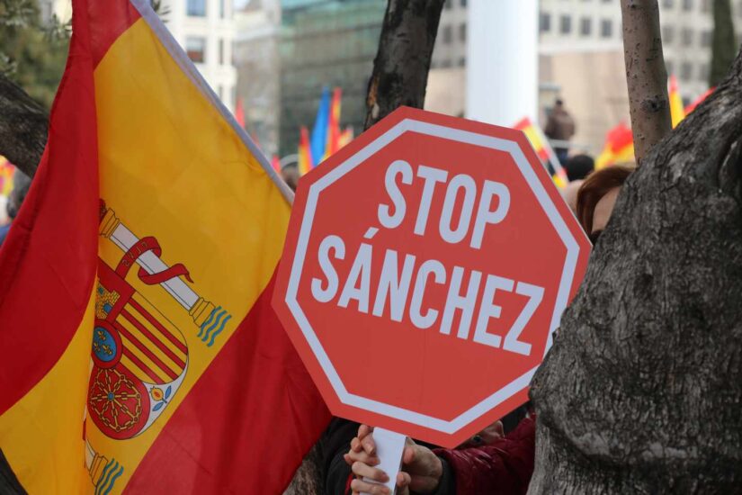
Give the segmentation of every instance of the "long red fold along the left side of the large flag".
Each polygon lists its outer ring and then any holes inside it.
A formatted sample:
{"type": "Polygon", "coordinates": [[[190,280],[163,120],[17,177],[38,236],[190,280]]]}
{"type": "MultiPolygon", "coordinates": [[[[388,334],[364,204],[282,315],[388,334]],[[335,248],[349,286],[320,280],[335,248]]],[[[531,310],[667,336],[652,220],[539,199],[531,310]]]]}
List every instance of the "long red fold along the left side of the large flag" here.
{"type": "Polygon", "coordinates": [[[93,293],[98,149],[86,22],[85,10],[73,20],[47,148],[0,249],[0,414],[58,362],[93,293]]]}

